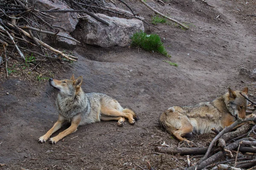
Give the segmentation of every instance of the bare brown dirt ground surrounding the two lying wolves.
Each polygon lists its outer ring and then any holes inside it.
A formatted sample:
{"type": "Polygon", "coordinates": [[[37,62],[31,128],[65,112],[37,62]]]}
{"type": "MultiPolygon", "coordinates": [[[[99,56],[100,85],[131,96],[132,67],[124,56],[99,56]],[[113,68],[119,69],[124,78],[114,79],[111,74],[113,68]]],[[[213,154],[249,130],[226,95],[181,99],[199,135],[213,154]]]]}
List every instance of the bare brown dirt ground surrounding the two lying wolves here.
{"type": "MultiPolygon", "coordinates": [[[[137,1],[127,3],[150,22],[152,11],[137,1]]],[[[190,27],[184,31],[172,23],[159,24],[159,30],[145,26],[148,33],[160,35],[171,58],[137,48],[83,45],[74,51],[78,62],[52,72],[55,79],[82,75],[85,92],[112,96],[140,120],[135,125],[126,121],[123,127],[114,121],[85,125],[55,145],[41,144],[38,138],[58,119],[55,93],[47,80],[2,79],[0,164],[5,165],[0,169],[138,170],[136,164],[146,169],[145,160],[156,170],[183,169],[186,156],[154,153],[164,141],[178,145],[158,127],[160,113],[172,105],[210,101],[227,87],[247,86],[256,99],[255,82],[239,75],[241,67],[256,68],[256,17],[246,15],[255,14],[255,0],[211,1],[215,8],[201,0],[147,3],[190,27]]],[[[191,140],[207,146],[213,137],[195,135],[191,140]]],[[[192,164],[197,160],[192,158],[192,164]]]]}

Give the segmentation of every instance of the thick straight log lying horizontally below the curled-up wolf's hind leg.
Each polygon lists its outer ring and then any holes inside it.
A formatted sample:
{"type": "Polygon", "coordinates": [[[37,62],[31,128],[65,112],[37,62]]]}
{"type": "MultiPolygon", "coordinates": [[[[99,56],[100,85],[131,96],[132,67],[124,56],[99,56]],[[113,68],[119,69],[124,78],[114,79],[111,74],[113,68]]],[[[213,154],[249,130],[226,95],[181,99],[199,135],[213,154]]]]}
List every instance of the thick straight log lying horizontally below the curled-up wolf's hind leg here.
{"type": "Polygon", "coordinates": [[[205,154],[207,151],[207,147],[177,147],[177,146],[171,146],[171,147],[156,147],[156,152],[160,153],[169,153],[169,154],[180,154],[180,155],[201,155],[205,154]]]}

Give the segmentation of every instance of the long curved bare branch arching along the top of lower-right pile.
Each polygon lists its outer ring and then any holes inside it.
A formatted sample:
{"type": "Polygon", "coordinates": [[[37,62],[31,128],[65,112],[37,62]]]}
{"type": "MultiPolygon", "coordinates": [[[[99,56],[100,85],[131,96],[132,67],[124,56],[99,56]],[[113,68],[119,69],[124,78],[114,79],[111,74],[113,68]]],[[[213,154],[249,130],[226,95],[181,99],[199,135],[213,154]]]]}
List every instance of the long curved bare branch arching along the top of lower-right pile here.
{"type": "Polygon", "coordinates": [[[206,160],[209,157],[210,152],[212,151],[212,147],[214,146],[215,142],[222,136],[224,133],[227,133],[229,130],[233,129],[236,127],[236,125],[243,123],[243,122],[248,122],[248,121],[255,121],[255,118],[247,118],[247,119],[237,119],[232,125],[225,127],[218,135],[215,136],[215,138],[212,140],[212,142],[209,144],[207,153],[205,156],[200,160],[200,162],[206,160]]]}

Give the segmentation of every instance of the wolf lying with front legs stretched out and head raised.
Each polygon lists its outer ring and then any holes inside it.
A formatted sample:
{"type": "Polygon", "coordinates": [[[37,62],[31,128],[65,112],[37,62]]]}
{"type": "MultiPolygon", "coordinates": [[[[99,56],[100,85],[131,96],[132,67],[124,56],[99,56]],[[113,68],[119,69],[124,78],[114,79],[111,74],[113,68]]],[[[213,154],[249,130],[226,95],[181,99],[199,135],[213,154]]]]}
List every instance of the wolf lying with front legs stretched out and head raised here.
{"type": "Polygon", "coordinates": [[[130,124],[134,124],[138,119],[136,114],[122,106],[110,96],[100,93],[85,94],[81,89],[83,77],[75,79],[56,80],[49,79],[49,84],[59,91],[56,106],[59,110],[58,121],[38,142],[46,142],[49,137],[61,128],[61,125],[68,121],[71,122],[69,128],[49,139],[52,144],[57,143],[65,136],[77,130],[79,125],[100,122],[101,120],[118,120],[117,124],[123,126],[125,118],[130,124]]]}

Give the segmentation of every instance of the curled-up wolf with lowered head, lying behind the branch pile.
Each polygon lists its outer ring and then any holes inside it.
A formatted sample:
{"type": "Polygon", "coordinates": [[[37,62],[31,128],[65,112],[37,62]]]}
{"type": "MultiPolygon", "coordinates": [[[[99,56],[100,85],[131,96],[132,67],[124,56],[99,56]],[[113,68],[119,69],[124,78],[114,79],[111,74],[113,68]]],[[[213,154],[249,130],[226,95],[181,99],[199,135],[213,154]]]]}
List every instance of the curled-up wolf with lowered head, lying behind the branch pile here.
{"type": "Polygon", "coordinates": [[[248,101],[239,92],[248,94],[248,88],[242,91],[228,92],[211,102],[194,106],[173,106],[160,115],[159,123],[164,130],[173,134],[179,141],[193,144],[184,139],[188,133],[212,133],[212,128],[221,130],[236,119],[245,118],[248,101]]]}

